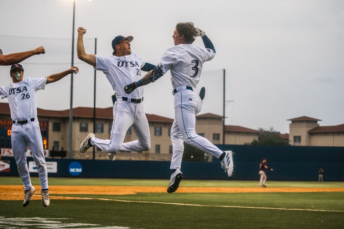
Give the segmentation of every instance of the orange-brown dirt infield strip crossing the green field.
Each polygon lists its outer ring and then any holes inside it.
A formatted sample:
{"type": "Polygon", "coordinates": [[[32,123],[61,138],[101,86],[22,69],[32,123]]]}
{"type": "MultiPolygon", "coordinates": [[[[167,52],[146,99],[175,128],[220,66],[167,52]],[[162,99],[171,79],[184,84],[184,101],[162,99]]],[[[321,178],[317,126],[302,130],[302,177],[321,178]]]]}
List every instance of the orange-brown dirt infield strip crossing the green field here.
{"type": "MultiPolygon", "coordinates": [[[[37,186],[32,199],[41,199],[40,187],[37,186]]],[[[157,186],[67,186],[49,187],[51,199],[70,199],[77,197],[56,196],[57,194],[94,194],[94,195],[129,195],[137,193],[165,193],[166,187],[157,186]]],[[[255,192],[344,192],[344,188],[300,188],[300,187],[180,187],[178,193],[255,193],[255,192]]],[[[22,200],[23,186],[0,185],[0,200],[22,200]]]]}

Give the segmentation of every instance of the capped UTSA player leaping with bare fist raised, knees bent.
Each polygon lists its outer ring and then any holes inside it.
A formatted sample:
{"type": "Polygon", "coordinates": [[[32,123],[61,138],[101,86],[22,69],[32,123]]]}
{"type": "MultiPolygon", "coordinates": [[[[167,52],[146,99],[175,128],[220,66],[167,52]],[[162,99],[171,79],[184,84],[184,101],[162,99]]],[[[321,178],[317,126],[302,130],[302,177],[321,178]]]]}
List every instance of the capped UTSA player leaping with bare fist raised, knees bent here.
{"type": "Polygon", "coordinates": [[[143,90],[137,90],[127,96],[123,88],[132,81],[141,79],[141,70],[150,71],[155,66],[146,63],[136,53],[131,52],[132,36],[116,36],[112,40],[112,56],[86,54],[83,44],[83,35],[86,30],[78,28],[77,53],[80,60],[94,66],[94,69],[103,71],[109,80],[112,89],[116,92],[114,103],[114,121],[111,137],[102,140],[89,133],[80,144],[80,152],[84,153],[91,146],[97,146],[106,151],[110,160],[114,161],[116,153],[123,151],[146,151],[150,149],[150,132],[143,107],[143,90]],[[128,128],[132,126],[137,135],[136,141],[123,143],[128,128]]]}

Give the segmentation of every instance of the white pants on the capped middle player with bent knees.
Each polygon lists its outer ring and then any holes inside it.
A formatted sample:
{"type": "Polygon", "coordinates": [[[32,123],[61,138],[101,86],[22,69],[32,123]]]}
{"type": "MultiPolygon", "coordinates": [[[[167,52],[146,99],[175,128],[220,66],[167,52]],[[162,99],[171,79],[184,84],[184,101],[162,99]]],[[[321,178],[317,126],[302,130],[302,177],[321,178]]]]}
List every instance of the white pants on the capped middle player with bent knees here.
{"type": "Polygon", "coordinates": [[[117,151],[146,151],[150,149],[150,132],[143,102],[132,103],[123,101],[121,96],[113,108],[114,121],[112,122],[111,137],[107,140],[91,138],[91,145],[97,146],[108,153],[117,151]],[[127,130],[132,126],[137,140],[125,142],[127,130]]]}

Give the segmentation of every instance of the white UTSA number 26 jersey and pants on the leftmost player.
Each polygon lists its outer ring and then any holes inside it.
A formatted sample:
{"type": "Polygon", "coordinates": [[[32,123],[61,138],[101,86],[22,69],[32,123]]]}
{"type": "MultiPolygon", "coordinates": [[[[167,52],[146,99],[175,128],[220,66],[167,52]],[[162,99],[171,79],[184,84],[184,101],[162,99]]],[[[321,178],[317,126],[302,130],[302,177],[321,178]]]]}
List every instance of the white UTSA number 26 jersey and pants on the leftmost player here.
{"type": "Polygon", "coordinates": [[[9,83],[5,87],[0,87],[1,99],[7,97],[10,105],[13,120],[11,131],[12,151],[25,190],[31,188],[30,174],[26,163],[28,147],[37,165],[41,188],[49,187],[35,96],[37,90],[45,88],[45,84],[46,77],[40,77],[28,78],[19,83],[9,83]],[[18,123],[19,120],[27,121],[27,123],[20,124],[18,123]]]}

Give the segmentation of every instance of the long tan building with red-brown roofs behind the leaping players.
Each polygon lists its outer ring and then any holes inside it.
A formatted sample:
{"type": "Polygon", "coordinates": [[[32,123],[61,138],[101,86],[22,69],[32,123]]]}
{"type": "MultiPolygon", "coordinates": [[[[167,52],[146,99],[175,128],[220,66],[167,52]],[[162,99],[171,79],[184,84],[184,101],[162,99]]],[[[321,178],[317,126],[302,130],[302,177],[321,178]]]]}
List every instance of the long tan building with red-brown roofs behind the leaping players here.
{"type": "MultiPolygon", "coordinates": [[[[45,149],[61,151],[68,148],[69,110],[52,111],[37,108],[41,133],[45,149]]],[[[172,142],[170,131],[173,119],[154,114],[146,114],[150,134],[151,149],[144,152],[119,152],[116,160],[164,160],[172,157],[172,142]]],[[[96,137],[109,139],[112,127],[112,107],[96,108],[96,126],[93,130],[93,108],[76,107],[73,109],[73,158],[93,158],[93,148],[80,153],[80,142],[88,133],[94,132],[96,137]]],[[[8,103],[0,103],[0,146],[11,148],[10,131],[12,126],[8,103]]],[[[222,144],[223,127],[222,116],[207,113],[196,116],[196,133],[206,137],[213,144],[222,144]]],[[[242,145],[258,138],[260,131],[240,126],[225,126],[225,143],[242,145]]],[[[129,128],[124,142],[136,140],[137,137],[129,128]]],[[[67,154],[68,155],[68,154],[67,154]]],[[[107,153],[95,147],[95,159],[107,159],[107,153]]]]}

